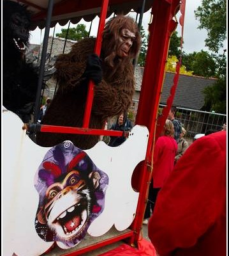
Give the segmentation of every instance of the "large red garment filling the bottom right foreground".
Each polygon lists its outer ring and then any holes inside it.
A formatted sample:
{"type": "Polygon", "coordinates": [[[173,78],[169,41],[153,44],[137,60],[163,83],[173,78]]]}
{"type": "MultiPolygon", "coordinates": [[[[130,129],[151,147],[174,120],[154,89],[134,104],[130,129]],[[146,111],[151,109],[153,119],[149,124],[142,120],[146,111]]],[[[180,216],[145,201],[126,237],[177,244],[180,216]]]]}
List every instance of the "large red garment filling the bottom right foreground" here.
{"type": "Polygon", "coordinates": [[[158,194],[149,238],[160,256],[226,255],[226,132],[196,140],[158,194]]]}

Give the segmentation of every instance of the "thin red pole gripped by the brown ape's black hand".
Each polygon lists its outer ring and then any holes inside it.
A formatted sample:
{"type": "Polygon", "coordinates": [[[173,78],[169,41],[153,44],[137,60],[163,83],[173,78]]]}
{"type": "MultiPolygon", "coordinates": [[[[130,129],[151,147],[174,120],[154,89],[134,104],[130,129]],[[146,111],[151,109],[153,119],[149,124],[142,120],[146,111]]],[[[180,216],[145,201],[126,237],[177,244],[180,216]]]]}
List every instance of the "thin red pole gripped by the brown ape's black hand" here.
{"type": "MultiPolygon", "coordinates": [[[[96,53],[98,56],[100,56],[100,52],[101,52],[102,34],[103,34],[103,29],[105,26],[105,20],[107,16],[108,2],[109,0],[103,0],[102,6],[101,6],[100,23],[98,27],[96,44],[94,45],[94,53],[96,53]]],[[[83,126],[82,126],[84,128],[89,127],[93,97],[94,97],[94,83],[92,81],[89,81],[87,101],[85,104],[84,120],[83,120],[83,126]]]]}

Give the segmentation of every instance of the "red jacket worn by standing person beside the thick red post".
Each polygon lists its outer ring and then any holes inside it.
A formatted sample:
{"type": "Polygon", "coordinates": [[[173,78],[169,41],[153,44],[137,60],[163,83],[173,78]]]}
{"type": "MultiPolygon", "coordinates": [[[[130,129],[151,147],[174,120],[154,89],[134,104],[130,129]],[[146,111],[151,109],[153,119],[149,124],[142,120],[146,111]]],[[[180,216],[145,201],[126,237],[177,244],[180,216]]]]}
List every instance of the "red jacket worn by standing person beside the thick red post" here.
{"type": "Polygon", "coordinates": [[[162,188],[174,169],[177,142],[170,136],[161,136],[155,143],[152,169],[153,188],[162,188]]]}

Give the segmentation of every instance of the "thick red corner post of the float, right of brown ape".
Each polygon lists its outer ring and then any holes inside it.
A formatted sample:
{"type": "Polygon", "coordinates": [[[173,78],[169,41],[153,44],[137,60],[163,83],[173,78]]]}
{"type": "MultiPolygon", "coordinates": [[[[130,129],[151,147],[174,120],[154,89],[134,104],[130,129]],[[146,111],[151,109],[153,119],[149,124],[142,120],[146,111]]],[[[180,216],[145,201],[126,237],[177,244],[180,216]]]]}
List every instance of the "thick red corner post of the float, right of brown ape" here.
{"type": "Polygon", "coordinates": [[[134,171],[132,184],[139,191],[136,218],[131,228],[135,235],[129,243],[136,244],[142,228],[144,210],[147,203],[149,182],[151,181],[152,154],[158,116],[159,100],[165,76],[165,63],[168,55],[170,28],[174,24],[173,17],[179,6],[179,0],[154,0],[152,5],[152,24],[149,26],[150,37],[145,61],[144,77],[138,104],[135,124],[145,125],[149,129],[149,141],[145,161],[134,171]]]}

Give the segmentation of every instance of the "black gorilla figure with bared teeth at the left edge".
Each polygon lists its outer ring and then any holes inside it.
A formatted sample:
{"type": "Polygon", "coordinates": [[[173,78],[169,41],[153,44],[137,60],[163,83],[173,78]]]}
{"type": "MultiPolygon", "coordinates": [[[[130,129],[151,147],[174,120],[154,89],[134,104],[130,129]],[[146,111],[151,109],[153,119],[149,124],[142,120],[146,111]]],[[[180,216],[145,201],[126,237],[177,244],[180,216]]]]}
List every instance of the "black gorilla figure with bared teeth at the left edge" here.
{"type": "Polygon", "coordinates": [[[38,74],[26,63],[30,13],[26,6],[3,1],[3,106],[27,123],[36,100],[38,74]]]}

